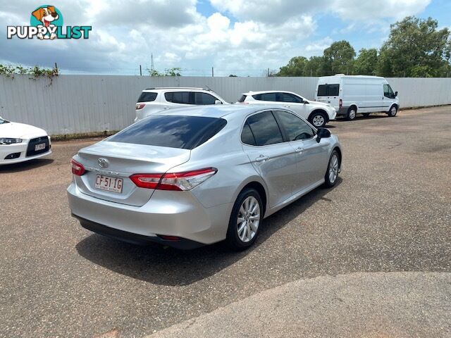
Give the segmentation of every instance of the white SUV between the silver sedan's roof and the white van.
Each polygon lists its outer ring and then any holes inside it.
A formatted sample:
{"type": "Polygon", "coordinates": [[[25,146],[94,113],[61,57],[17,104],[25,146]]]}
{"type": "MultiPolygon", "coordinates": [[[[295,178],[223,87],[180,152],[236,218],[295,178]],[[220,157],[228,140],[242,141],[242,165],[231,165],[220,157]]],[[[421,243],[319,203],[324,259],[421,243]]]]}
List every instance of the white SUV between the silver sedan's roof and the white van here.
{"type": "Polygon", "coordinates": [[[309,120],[315,127],[324,127],[330,120],[335,120],[337,112],[330,104],[310,101],[293,92],[264,91],[242,94],[237,103],[269,104],[289,108],[297,115],[309,120]]]}

